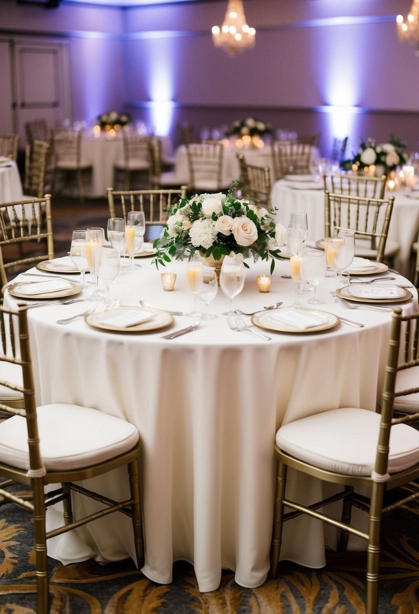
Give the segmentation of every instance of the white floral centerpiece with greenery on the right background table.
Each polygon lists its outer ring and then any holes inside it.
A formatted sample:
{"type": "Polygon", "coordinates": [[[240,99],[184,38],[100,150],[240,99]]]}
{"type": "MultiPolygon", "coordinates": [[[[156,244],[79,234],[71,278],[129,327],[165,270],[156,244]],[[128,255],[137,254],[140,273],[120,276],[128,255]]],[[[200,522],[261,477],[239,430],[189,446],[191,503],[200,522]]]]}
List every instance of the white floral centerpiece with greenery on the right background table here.
{"type": "Polygon", "coordinates": [[[373,139],[368,139],[367,142],[361,139],[356,156],[352,160],[345,161],[343,165],[347,170],[350,170],[353,165],[358,166],[360,169],[375,165],[376,169],[379,171],[384,169],[383,174],[388,175],[390,171],[396,170],[397,166],[406,163],[407,154],[405,153],[405,148],[406,144],[393,134],[390,134],[387,143],[379,145],[376,145],[373,139]]]}

